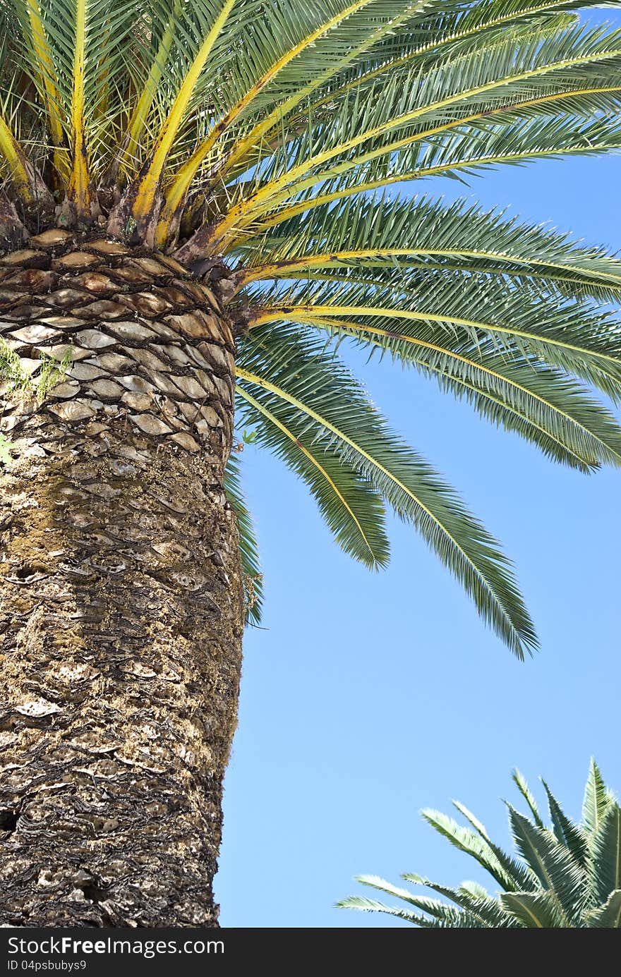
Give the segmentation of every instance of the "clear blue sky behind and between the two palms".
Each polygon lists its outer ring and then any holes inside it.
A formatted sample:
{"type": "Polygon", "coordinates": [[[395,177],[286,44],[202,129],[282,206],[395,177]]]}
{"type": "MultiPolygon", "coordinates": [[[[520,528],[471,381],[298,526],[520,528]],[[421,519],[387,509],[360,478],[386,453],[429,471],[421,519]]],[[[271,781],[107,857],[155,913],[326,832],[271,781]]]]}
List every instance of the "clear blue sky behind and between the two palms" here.
{"type": "MultiPolygon", "coordinates": [[[[417,191],[510,205],[616,251],[620,177],[621,156],[608,156],[417,191]]],[[[388,358],[356,364],[393,427],[502,540],[542,649],[525,664],[512,658],[397,522],[387,571],[353,563],[306,489],[267,452],[245,447],[265,630],[245,638],[216,882],[224,926],[402,925],[333,903],[361,892],[352,876],[364,872],[483,880],[419,811],[449,813],[455,797],[509,844],[500,798],[514,799],[514,766],[535,786],[544,776],[576,816],[592,754],[621,790],[621,470],[561,468],[415,371],[388,358]]]]}

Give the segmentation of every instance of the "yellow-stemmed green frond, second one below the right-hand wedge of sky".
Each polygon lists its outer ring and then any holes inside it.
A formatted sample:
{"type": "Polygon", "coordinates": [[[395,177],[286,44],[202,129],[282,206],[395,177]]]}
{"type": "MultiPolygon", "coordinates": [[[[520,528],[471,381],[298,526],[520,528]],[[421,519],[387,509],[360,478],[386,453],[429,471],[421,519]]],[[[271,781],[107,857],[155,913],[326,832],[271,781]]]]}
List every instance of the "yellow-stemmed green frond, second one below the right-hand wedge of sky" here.
{"type": "Polygon", "coordinates": [[[409,332],[410,338],[426,342],[452,342],[457,334],[474,348],[493,341],[511,359],[519,351],[619,397],[621,330],[611,313],[579,302],[559,303],[552,296],[531,297],[527,289],[503,288],[494,279],[445,275],[434,276],[432,284],[421,274],[391,276],[381,270],[373,283],[359,274],[336,283],[333,277],[311,279],[253,296],[250,326],[332,319],[338,328],[350,322],[350,328],[379,328],[398,337],[409,332]]]}

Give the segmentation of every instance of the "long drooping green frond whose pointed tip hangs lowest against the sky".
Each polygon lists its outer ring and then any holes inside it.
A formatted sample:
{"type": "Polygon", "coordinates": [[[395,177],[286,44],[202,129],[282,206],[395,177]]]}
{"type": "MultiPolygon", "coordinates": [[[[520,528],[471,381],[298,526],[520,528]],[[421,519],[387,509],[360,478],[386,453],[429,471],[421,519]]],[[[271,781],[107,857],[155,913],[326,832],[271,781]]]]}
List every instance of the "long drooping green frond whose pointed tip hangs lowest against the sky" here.
{"type": "Polygon", "coordinates": [[[321,345],[293,331],[256,330],[238,366],[241,386],[272,412],[279,401],[312,438],[336,450],[413,524],[463,583],[479,613],[518,656],[535,645],[532,625],[506,559],[492,537],[419,455],[389,432],[353,377],[321,345]],[[243,364],[243,365],[242,365],[243,364]]]}

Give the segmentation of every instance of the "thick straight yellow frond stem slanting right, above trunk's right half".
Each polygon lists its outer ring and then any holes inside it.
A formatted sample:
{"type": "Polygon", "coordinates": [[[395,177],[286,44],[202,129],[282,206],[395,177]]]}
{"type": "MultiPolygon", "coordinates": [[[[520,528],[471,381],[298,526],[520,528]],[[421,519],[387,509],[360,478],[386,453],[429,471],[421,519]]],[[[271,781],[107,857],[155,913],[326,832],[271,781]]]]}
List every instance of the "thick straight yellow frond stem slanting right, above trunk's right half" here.
{"type": "Polygon", "coordinates": [[[136,188],[134,206],[132,208],[132,214],[136,221],[144,220],[155,207],[155,199],[159,191],[161,176],[166,159],[168,158],[168,153],[175,141],[177,131],[197,86],[202,69],[235,3],[236,0],[226,0],[211,30],[200,45],[199,53],[191,64],[183,80],[183,84],[177,93],[174,104],[161,127],[155,142],[151,163],[144,175],[140,178],[136,188]]]}

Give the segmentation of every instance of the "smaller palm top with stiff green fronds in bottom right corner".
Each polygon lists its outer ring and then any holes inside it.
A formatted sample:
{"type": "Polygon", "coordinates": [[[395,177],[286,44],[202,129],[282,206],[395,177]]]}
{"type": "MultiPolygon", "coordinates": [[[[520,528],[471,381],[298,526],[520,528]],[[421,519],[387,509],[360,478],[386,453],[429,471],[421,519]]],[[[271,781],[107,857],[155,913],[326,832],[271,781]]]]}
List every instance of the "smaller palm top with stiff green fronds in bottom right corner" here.
{"type": "Polygon", "coordinates": [[[507,805],[518,860],[494,844],[484,826],[463,804],[454,801],[470,828],[438,811],[422,811],[432,828],[492,875],[501,889],[497,897],[476,882],[464,882],[459,889],[451,889],[421,875],[402,876],[451,900],[450,905],[391,885],[377,875],[360,875],[357,881],[363,885],[396,896],[413,909],[385,906],[364,896],[351,896],[336,905],[341,909],[389,913],[429,929],[621,929],[621,808],[603,783],[598,765],[591,761],[579,824],[564,814],[543,781],[551,819],[547,828],[533,794],[517,770],[513,781],[531,813],[531,818],[526,818],[507,805]]]}

